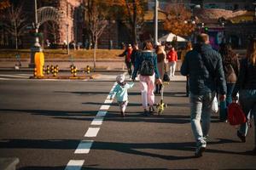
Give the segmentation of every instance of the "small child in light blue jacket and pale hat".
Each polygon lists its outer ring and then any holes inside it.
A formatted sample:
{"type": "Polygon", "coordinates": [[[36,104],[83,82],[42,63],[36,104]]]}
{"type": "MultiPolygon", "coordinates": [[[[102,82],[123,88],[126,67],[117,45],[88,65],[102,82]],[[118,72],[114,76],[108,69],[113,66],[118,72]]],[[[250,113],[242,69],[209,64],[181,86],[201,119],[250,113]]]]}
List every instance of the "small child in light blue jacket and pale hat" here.
{"type": "Polygon", "coordinates": [[[116,77],[117,85],[113,88],[113,93],[110,96],[110,99],[113,99],[115,95],[116,100],[119,104],[119,108],[121,111],[121,116],[125,116],[125,109],[128,105],[128,88],[132,88],[134,83],[133,82],[125,82],[125,76],[119,75],[116,77]]]}

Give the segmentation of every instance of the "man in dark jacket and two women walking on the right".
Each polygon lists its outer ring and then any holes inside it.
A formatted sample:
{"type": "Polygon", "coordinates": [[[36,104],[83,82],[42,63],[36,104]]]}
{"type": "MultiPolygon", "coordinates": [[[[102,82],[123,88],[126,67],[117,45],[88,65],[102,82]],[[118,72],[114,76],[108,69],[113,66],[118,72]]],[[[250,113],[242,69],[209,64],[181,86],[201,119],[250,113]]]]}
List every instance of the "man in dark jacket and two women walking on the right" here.
{"type": "MultiPolygon", "coordinates": [[[[241,65],[229,45],[223,44],[218,53],[209,44],[207,34],[201,34],[197,40],[198,43],[185,55],[181,66],[181,74],[189,77],[191,127],[197,146],[195,156],[202,156],[207,148],[212,101],[216,94],[219,102],[224,105],[220,108],[220,119],[226,121],[226,108],[232,100],[236,102],[238,92],[239,103],[247,119],[254,117],[255,154],[256,39],[252,38],[248,43],[247,56],[241,60],[241,65]]],[[[241,142],[246,142],[247,129],[248,123],[245,122],[237,131],[241,142]]]]}

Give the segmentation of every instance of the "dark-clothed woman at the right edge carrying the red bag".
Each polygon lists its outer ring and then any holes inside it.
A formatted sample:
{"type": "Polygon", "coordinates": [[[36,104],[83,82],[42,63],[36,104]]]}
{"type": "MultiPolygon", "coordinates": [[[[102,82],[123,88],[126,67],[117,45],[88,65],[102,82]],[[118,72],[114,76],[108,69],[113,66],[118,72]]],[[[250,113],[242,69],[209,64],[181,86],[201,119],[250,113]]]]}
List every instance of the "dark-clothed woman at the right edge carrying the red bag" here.
{"type": "MultiPolygon", "coordinates": [[[[256,154],[256,37],[250,39],[247,48],[247,56],[241,60],[241,67],[236,87],[233,91],[232,98],[237,100],[236,94],[239,92],[239,103],[242,111],[245,113],[247,119],[254,117],[254,149],[256,154]],[[250,116],[249,116],[250,114],[250,116]]],[[[237,136],[241,142],[246,142],[247,130],[249,127],[249,120],[242,123],[237,136]]]]}

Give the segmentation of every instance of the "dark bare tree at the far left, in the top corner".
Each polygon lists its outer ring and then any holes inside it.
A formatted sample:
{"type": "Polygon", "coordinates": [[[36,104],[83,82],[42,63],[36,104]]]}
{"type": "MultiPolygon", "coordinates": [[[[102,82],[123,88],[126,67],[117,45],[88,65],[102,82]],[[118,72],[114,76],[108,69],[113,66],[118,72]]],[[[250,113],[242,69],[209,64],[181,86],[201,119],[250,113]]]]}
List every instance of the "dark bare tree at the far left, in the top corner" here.
{"type": "Polygon", "coordinates": [[[22,6],[14,7],[12,4],[9,8],[6,20],[9,22],[5,23],[4,26],[9,33],[15,37],[15,48],[18,49],[19,37],[24,33],[26,29],[26,16],[23,13],[22,6]]]}

